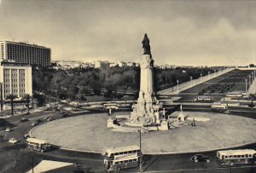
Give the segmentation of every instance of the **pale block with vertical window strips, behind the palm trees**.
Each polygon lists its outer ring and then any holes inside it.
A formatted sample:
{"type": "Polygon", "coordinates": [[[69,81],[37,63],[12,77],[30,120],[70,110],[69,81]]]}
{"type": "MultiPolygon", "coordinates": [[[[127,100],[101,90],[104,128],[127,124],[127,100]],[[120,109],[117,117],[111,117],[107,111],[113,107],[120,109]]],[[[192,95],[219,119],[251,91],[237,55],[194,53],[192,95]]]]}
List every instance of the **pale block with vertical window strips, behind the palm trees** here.
{"type": "Polygon", "coordinates": [[[3,100],[8,95],[16,95],[18,98],[32,95],[32,66],[0,61],[0,85],[3,100]]]}

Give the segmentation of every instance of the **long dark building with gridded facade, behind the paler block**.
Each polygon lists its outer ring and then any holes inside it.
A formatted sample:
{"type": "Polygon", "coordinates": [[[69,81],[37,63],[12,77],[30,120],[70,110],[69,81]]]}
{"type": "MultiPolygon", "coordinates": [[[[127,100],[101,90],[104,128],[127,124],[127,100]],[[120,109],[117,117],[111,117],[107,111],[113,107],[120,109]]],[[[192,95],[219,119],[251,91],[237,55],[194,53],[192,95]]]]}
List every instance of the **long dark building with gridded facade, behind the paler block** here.
{"type": "Polygon", "coordinates": [[[51,51],[36,44],[0,41],[0,59],[31,66],[50,66],[51,51]]]}

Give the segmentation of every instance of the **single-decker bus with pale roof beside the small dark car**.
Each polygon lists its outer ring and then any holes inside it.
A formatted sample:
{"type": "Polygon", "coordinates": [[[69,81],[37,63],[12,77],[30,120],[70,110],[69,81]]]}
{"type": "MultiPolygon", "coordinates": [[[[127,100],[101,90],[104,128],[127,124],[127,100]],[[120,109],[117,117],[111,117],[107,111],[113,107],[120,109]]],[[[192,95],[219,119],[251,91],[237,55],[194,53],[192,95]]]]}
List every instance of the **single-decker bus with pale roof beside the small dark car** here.
{"type": "Polygon", "coordinates": [[[256,151],[253,149],[223,150],[217,152],[219,164],[256,164],[256,151]]]}

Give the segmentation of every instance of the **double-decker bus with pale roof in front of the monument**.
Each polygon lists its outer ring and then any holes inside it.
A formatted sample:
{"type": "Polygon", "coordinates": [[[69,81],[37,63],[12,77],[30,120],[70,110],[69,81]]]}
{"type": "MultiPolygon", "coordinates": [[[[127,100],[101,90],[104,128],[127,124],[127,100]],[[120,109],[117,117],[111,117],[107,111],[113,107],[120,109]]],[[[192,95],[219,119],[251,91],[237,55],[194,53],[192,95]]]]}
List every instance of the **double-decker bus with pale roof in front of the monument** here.
{"type": "Polygon", "coordinates": [[[139,166],[141,150],[138,146],[113,147],[104,155],[104,167],[107,171],[123,170],[139,166]]]}

